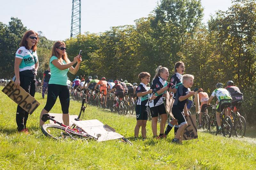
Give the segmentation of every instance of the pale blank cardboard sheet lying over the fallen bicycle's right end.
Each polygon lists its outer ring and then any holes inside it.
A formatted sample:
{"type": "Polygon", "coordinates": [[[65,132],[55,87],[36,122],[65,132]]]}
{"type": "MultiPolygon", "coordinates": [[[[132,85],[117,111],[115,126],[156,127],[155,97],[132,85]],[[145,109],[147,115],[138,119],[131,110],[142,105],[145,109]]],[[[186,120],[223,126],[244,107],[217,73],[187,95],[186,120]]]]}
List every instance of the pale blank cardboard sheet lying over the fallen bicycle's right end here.
{"type": "Polygon", "coordinates": [[[107,141],[113,139],[119,139],[124,136],[116,133],[116,130],[108,126],[104,125],[97,119],[94,120],[85,120],[85,121],[72,121],[76,124],[76,126],[83,129],[89,135],[98,138],[97,141],[107,141]]]}

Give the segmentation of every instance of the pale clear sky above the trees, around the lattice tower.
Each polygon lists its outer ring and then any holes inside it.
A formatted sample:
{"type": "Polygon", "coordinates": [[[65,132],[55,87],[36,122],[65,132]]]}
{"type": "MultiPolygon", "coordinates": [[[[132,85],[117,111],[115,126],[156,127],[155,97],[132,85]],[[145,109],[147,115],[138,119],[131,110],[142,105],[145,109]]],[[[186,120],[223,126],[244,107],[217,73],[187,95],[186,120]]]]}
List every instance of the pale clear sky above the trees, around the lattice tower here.
{"type": "MultiPolygon", "coordinates": [[[[231,0],[201,1],[205,23],[210,14],[226,11],[231,6],[231,0]]],[[[134,20],[147,17],[156,4],[157,0],[82,0],[81,33],[99,33],[111,26],[133,25],[134,20]]],[[[17,17],[28,29],[42,31],[48,39],[70,37],[72,0],[9,0],[2,5],[0,22],[4,24],[8,24],[11,17],[17,17]]]]}

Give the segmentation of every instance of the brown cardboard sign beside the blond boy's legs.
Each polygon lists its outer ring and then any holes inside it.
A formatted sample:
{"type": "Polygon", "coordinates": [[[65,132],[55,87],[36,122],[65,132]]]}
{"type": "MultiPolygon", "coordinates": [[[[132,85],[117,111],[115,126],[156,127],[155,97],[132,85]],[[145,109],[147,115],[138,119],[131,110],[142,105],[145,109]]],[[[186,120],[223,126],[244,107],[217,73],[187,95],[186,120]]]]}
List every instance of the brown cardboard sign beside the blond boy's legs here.
{"type": "Polygon", "coordinates": [[[183,131],[183,140],[197,139],[196,115],[185,116],[188,126],[183,131]]]}

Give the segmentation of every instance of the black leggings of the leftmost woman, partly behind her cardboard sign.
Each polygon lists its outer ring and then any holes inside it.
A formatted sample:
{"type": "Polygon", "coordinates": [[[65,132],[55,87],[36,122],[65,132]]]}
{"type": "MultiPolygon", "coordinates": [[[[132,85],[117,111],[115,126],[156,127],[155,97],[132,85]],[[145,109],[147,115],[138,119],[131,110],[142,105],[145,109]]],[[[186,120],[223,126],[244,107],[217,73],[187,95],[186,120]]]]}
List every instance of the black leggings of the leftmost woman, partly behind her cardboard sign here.
{"type": "MultiPolygon", "coordinates": [[[[22,87],[26,92],[28,92],[31,96],[35,96],[36,93],[36,79],[33,77],[22,76],[20,75],[20,87],[22,87]]],[[[16,111],[16,123],[18,131],[26,128],[28,120],[28,112],[26,112],[19,105],[16,111]]]]}

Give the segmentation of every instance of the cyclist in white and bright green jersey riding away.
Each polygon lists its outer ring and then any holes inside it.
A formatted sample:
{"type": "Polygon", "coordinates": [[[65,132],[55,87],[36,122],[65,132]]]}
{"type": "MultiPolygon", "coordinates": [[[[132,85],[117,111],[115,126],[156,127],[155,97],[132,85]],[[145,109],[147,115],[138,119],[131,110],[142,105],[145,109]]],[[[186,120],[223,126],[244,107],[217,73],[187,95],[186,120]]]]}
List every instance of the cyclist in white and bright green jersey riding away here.
{"type": "Polygon", "coordinates": [[[225,107],[230,107],[231,106],[232,97],[229,94],[228,90],[223,89],[223,84],[222,83],[217,83],[216,84],[216,89],[212,92],[211,97],[208,99],[207,105],[210,105],[214,96],[216,96],[217,99],[218,99],[217,102],[216,102],[216,104],[218,104],[218,106],[216,108],[216,120],[217,120],[217,124],[219,126],[219,130],[217,131],[216,134],[218,134],[221,131],[220,113],[222,112],[222,110],[225,107]]]}

